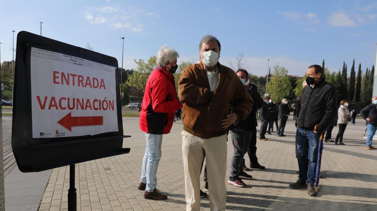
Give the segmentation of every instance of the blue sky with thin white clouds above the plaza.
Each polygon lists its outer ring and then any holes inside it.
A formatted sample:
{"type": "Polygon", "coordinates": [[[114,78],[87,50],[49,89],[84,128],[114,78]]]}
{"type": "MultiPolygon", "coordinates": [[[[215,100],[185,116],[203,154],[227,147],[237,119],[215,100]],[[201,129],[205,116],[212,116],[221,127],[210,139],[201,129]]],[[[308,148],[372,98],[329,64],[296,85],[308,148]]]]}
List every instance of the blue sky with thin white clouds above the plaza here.
{"type": "MultiPolygon", "coordinates": [[[[164,44],[176,49],[178,63],[197,60],[205,34],[221,42],[220,62],[229,66],[243,52],[255,75],[279,63],[303,75],[317,63],[330,71],[352,60],[362,70],[375,63],[377,2],[360,1],[3,1],[0,13],[1,60],[12,59],[12,30],[40,33],[122,60],[147,60],[164,44]]],[[[272,69],[272,68],[271,68],[272,69]]],[[[271,70],[272,71],[272,70],[271,70]]]]}

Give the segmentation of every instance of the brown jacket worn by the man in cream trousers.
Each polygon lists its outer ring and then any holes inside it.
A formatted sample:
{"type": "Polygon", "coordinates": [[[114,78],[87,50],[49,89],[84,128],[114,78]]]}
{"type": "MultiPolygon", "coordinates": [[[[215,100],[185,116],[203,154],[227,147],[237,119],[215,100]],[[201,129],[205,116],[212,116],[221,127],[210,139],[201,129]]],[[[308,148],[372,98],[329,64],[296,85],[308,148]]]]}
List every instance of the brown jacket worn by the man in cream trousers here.
{"type": "Polygon", "coordinates": [[[183,129],[203,139],[218,137],[227,131],[221,120],[226,119],[231,106],[237,120],[248,117],[253,99],[236,73],[220,63],[219,85],[214,92],[210,86],[203,64],[187,66],[178,82],[178,96],[183,103],[183,129]]]}

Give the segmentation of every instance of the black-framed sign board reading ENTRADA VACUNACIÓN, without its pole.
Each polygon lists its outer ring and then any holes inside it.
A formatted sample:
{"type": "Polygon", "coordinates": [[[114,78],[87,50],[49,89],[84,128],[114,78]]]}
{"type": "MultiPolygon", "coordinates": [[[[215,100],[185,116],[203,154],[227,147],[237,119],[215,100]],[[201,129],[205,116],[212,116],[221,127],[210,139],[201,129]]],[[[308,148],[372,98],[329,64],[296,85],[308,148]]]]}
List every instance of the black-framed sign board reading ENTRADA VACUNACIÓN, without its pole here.
{"type": "Polygon", "coordinates": [[[20,171],[130,151],[114,57],[26,31],[16,49],[12,150],[20,171]]]}

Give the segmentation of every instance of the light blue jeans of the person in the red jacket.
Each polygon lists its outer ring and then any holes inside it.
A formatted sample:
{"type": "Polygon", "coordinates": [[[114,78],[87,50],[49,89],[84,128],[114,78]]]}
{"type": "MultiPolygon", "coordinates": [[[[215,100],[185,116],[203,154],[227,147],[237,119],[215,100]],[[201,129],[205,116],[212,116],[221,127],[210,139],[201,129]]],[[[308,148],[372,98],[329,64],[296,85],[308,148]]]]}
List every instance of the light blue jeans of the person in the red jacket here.
{"type": "Polygon", "coordinates": [[[141,166],[141,182],[147,183],[146,191],[152,192],[157,185],[157,167],[161,159],[162,134],[145,133],[146,148],[141,166]]]}

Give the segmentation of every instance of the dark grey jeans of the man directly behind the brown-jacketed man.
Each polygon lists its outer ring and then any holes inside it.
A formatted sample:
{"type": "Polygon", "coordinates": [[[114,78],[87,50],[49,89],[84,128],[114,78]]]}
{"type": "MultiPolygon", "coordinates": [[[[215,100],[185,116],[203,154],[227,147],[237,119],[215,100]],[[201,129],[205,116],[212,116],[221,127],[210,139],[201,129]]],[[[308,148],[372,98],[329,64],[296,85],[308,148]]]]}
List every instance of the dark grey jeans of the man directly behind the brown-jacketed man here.
{"type": "Polygon", "coordinates": [[[230,165],[230,177],[238,177],[244,171],[244,155],[250,145],[251,131],[231,131],[231,136],[234,152],[230,165]]]}

